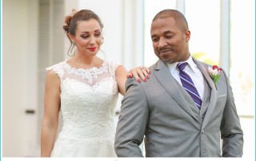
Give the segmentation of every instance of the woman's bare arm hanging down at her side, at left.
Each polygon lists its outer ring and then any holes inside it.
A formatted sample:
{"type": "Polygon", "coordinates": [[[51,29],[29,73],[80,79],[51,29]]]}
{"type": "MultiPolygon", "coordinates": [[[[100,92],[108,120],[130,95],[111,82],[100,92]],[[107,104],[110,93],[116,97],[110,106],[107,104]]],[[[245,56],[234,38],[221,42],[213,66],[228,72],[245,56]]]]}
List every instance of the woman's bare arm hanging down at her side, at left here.
{"type": "Polygon", "coordinates": [[[46,75],[45,108],[42,120],[41,156],[50,157],[58,131],[58,113],[60,109],[60,79],[50,71],[46,75]]]}

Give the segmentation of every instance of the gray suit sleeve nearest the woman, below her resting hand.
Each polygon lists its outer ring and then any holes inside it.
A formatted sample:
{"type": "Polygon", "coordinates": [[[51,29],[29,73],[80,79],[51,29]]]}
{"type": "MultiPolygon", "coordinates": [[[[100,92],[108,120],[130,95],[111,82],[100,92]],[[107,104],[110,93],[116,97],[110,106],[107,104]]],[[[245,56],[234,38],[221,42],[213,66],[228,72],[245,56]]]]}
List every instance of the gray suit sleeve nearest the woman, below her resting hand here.
{"type": "Polygon", "coordinates": [[[134,79],[128,79],[115,135],[114,149],[118,157],[143,156],[138,146],[144,138],[148,115],[142,85],[134,79]]]}

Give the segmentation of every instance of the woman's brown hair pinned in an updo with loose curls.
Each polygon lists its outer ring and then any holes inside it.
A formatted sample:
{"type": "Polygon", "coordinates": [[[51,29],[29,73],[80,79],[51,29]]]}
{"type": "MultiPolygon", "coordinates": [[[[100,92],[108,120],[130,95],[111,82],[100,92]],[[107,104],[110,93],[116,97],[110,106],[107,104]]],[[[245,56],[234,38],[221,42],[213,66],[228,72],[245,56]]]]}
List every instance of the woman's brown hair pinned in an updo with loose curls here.
{"type": "Polygon", "coordinates": [[[69,56],[74,56],[74,52],[72,52],[75,48],[75,43],[71,41],[70,37],[68,36],[68,33],[75,36],[75,31],[77,29],[77,25],[79,21],[89,21],[90,19],[95,19],[98,24],[101,26],[101,29],[103,28],[102,20],[98,17],[97,14],[95,14],[91,10],[72,10],[73,14],[70,14],[66,16],[65,18],[65,24],[63,26],[64,31],[66,32],[66,36],[70,40],[70,49],[68,51],[69,56]],[[73,55],[70,55],[69,53],[73,53],[73,55]]]}

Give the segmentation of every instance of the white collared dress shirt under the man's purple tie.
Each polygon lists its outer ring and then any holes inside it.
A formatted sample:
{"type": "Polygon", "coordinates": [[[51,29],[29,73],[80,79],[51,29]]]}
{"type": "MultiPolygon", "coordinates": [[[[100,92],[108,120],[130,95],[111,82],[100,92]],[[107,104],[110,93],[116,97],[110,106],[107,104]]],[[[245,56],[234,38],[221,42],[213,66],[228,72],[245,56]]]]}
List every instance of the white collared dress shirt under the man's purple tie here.
{"type": "Polygon", "coordinates": [[[201,71],[198,69],[198,65],[196,65],[190,56],[190,58],[186,61],[182,62],[177,62],[177,63],[172,63],[172,64],[167,64],[170,73],[173,75],[176,81],[178,81],[179,84],[182,85],[182,81],[179,77],[179,69],[177,68],[178,63],[184,63],[187,62],[188,65],[186,65],[185,69],[183,70],[186,72],[194,82],[195,88],[197,88],[199,96],[201,97],[201,100],[203,99],[203,93],[205,90],[205,84],[204,84],[204,79],[202,76],[201,71]]]}

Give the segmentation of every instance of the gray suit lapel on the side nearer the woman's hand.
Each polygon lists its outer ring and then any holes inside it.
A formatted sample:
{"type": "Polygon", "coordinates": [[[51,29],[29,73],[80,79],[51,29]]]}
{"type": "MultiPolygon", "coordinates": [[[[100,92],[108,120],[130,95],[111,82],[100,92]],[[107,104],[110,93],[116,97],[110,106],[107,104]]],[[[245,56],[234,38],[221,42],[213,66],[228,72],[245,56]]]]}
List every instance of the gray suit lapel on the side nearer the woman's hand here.
{"type": "Polygon", "coordinates": [[[174,98],[176,102],[178,102],[178,104],[180,104],[180,106],[186,112],[193,116],[195,120],[198,120],[197,117],[194,115],[194,112],[190,108],[190,105],[187,104],[187,101],[184,99],[184,96],[178,88],[174,77],[172,77],[171,74],[166,74],[170,73],[168,67],[162,61],[158,60],[158,65],[155,70],[157,70],[157,72],[154,73],[155,77],[158,79],[160,84],[162,84],[162,86],[166,88],[166,91],[174,98]]]}

